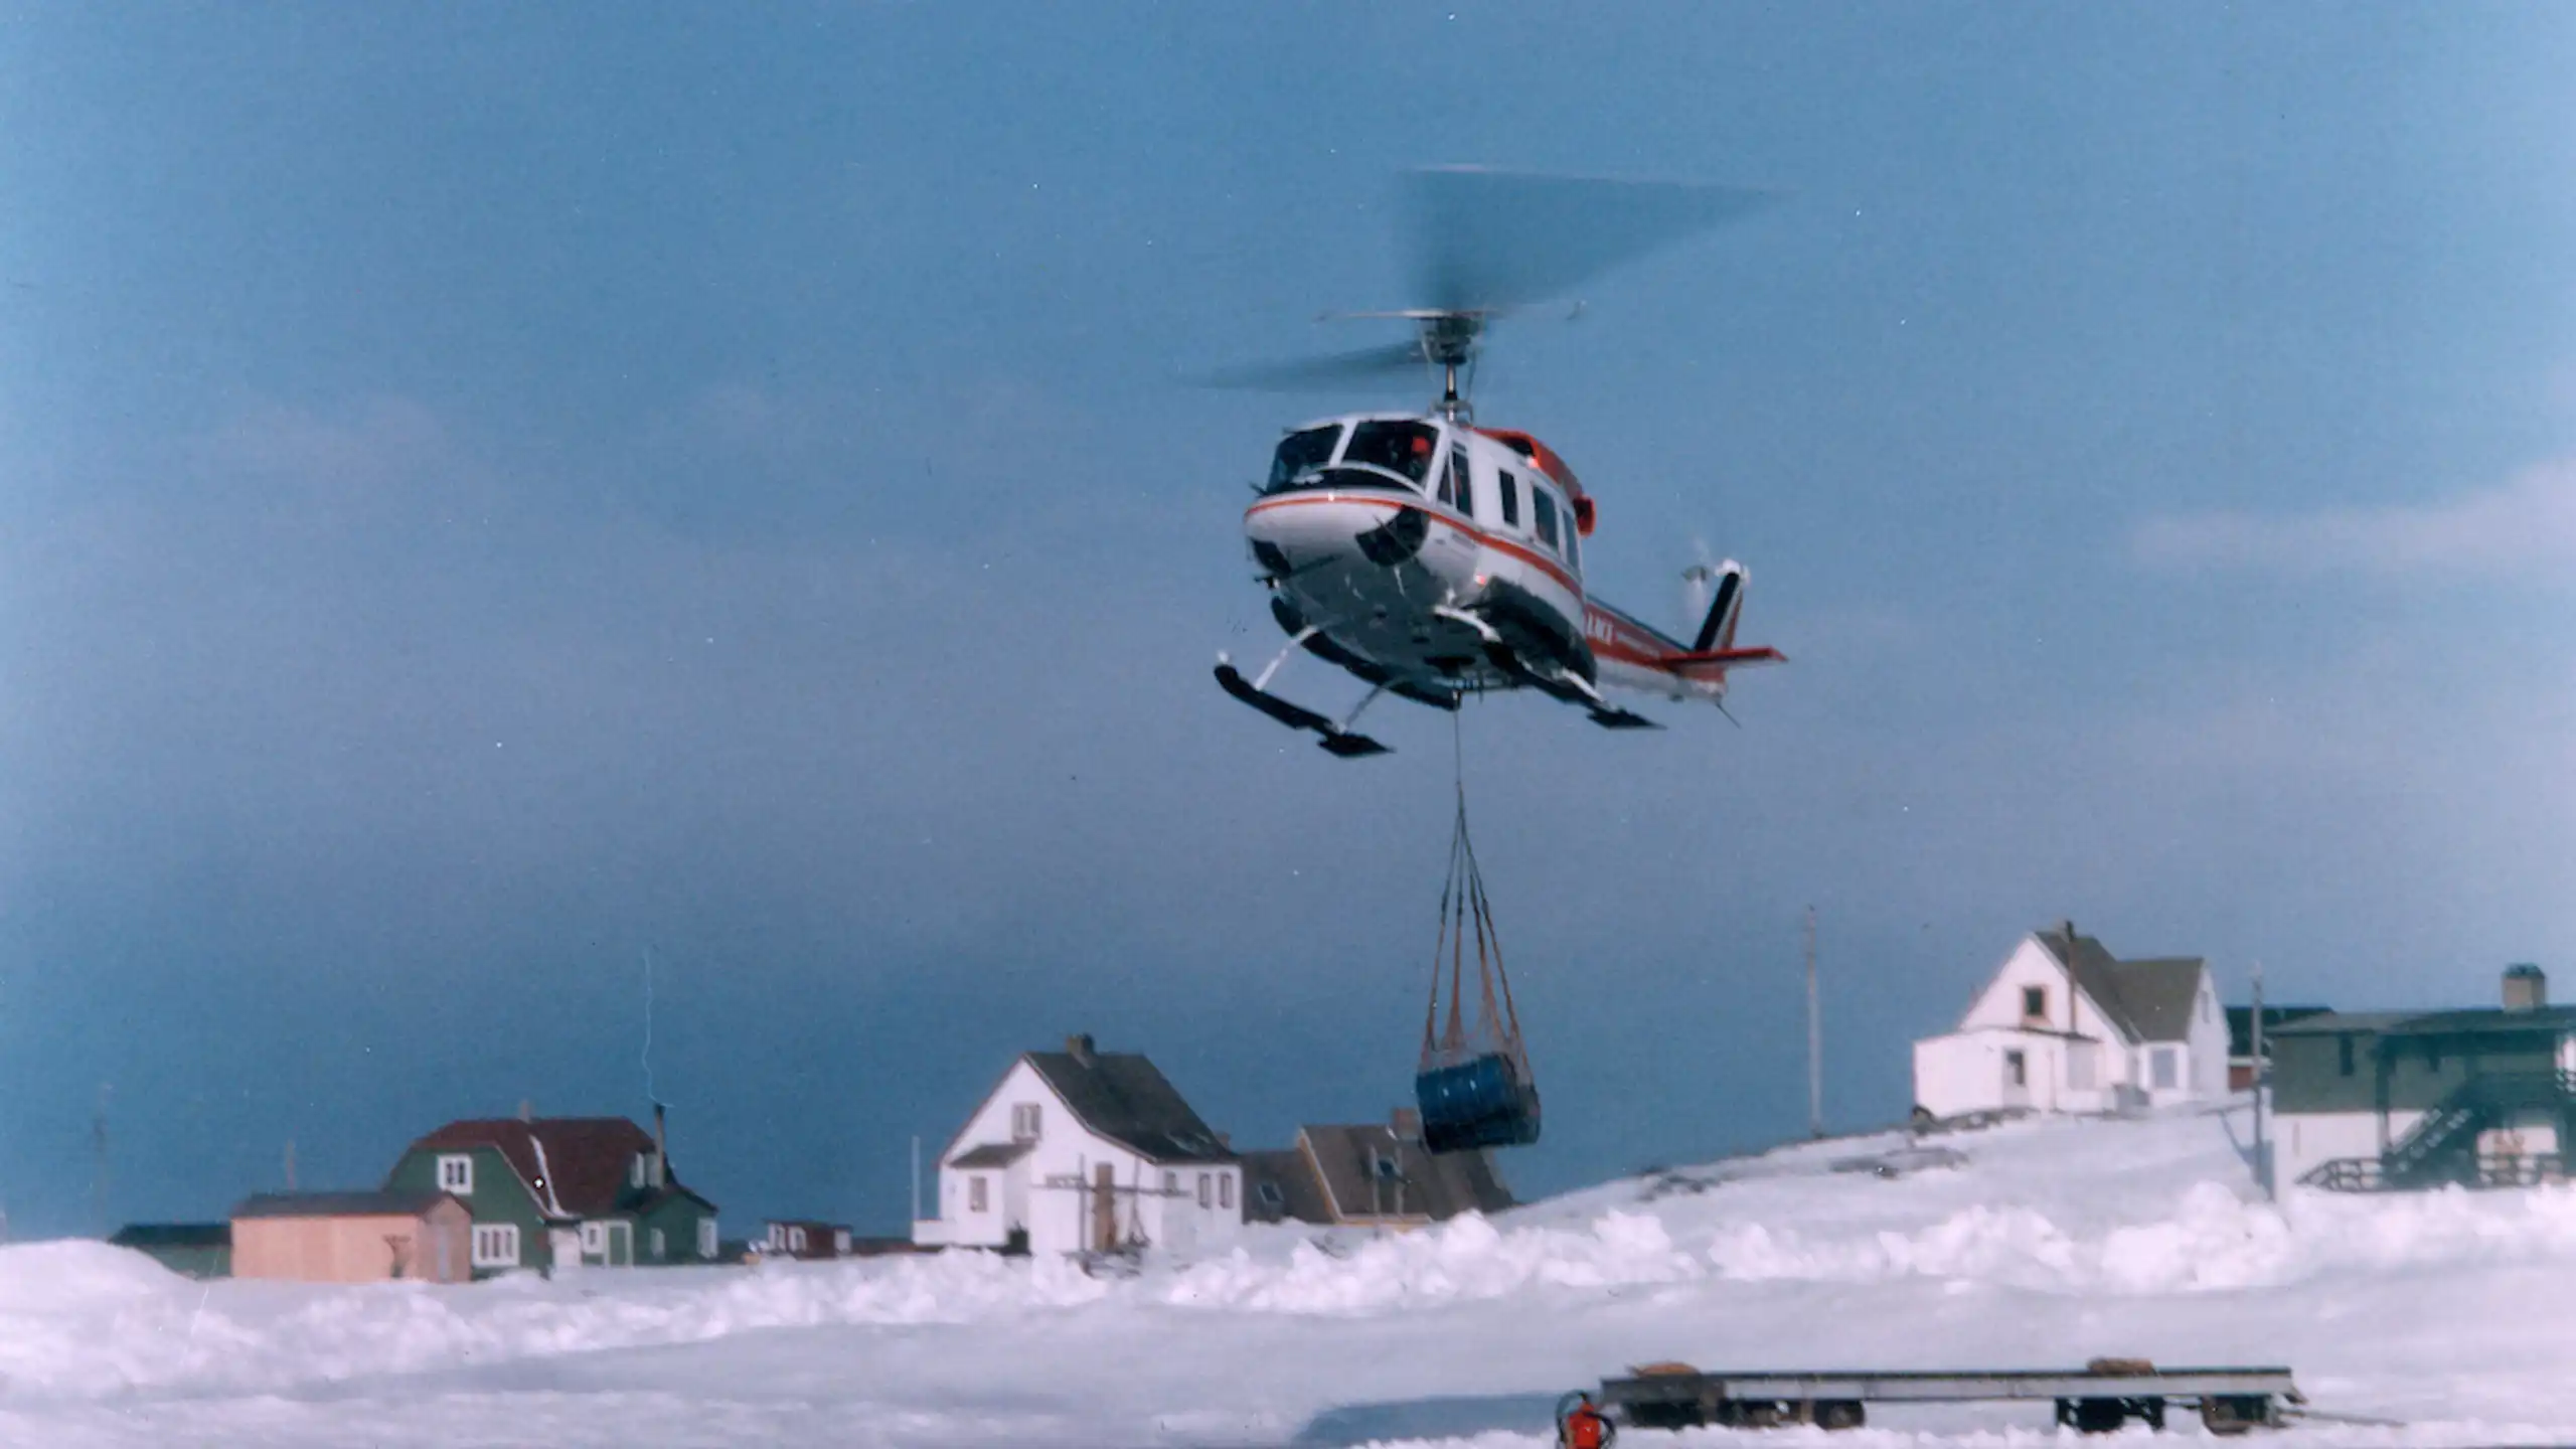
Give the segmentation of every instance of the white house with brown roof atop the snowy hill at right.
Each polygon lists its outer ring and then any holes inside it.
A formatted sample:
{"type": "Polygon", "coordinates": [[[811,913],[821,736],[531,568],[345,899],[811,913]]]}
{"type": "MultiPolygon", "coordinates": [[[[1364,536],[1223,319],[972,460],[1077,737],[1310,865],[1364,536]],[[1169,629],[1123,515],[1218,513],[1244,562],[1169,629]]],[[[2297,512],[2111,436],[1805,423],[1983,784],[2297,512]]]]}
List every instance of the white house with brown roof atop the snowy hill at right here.
{"type": "Polygon", "coordinates": [[[2120,962],[2074,920],[2025,936],[1958,1031],[1914,1044],[1914,1106],[1932,1116],[2164,1106],[2226,1080],[2208,962],[2120,962]]]}

